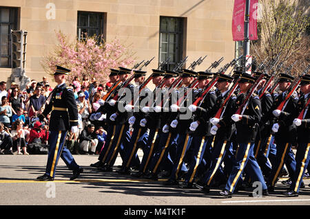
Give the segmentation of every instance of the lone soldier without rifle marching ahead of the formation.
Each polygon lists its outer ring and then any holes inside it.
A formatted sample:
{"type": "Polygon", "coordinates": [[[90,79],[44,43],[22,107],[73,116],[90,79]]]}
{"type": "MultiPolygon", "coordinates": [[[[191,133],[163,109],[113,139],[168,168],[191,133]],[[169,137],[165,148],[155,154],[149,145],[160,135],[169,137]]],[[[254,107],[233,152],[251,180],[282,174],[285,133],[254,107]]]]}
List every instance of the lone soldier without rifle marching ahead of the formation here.
{"type": "Polygon", "coordinates": [[[76,100],[72,88],[67,87],[65,84],[65,78],[70,73],[70,69],[56,66],[54,73],[54,80],[57,86],[50,95],[48,104],[45,105],[45,109],[39,119],[43,121],[49,113],[50,124],[49,130],[50,135],[48,138],[48,144],[50,146],[48,152],[48,163],[46,165],[45,174],[39,176],[39,181],[53,181],[56,172],[56,165],[59,161],[59,157],[63,159],[65,164],[70,170],[73,171],[73,176],[70,180],[78,178],[83,172],[81,168],[74,161],[70,150],[65,146],[65,137],[67,132],[78,132],[78,111],[76,106],[76,100]]]}

